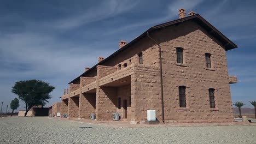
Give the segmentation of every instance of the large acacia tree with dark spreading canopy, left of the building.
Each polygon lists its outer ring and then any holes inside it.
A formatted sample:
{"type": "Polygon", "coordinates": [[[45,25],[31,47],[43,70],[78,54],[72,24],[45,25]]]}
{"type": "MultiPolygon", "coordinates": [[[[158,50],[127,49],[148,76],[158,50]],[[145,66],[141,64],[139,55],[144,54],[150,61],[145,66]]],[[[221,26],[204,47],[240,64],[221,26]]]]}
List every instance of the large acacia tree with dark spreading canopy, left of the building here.
{"type": "Polygon", "coordinates": [[[11,92],[17,94],[19,99],[25,102],[26,112],[34,105],[45,105],[48,103],[48,99],[51,98],[50,93],[55,89],[54,86],[50,86],[49,83],[41,80],[28,80],[17,81],[11,89],[11,92]]]}

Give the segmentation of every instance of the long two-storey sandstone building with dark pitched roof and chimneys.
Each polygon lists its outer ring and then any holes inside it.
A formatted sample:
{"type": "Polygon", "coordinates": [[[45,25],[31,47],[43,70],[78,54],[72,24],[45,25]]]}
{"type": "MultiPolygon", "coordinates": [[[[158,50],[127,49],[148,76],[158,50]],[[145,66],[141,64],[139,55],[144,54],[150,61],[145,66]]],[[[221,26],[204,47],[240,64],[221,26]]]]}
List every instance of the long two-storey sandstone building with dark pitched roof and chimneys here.
{"type": "Polygon", "coordinates": [[[69,82],[61,97],[68,118],[139,123],[147,110],[165,123],[232,122],[226,51],[237,46],[193,11],[149,28],[119,50],[99,57],[92,68],[69,82]]]}

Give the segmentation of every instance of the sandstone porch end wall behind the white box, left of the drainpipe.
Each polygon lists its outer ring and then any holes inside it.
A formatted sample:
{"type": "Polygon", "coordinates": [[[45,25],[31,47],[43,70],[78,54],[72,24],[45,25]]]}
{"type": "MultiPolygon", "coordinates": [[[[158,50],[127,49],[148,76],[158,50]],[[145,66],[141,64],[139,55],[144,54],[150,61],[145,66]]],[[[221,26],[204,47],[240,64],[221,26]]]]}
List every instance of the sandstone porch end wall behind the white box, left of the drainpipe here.
{"type": "Polygon", "coordinates": [[[131,121],[146,121],[147,110],[156,110],[161,121],[159,68],[137,64],[131,75],[131,121]]]}

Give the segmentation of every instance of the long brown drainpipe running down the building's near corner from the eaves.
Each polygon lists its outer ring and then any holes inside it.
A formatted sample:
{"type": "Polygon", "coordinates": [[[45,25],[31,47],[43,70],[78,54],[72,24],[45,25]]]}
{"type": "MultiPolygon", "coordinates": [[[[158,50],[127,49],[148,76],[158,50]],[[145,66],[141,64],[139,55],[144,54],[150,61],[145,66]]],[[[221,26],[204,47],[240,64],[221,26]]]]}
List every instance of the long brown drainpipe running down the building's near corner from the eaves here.
{"type": "Polygon", "coordinates": [[[158,46],[159,46],[159,63],[160,63],[160,83],[161,83],[161,104],[162,104],[162,122],[165,123],[165,111],[164,111],[164,90],[163,90],[163,86],[162,86],[162,54],[161,54],[161,46],[160,44],[155,41],[152,37],[149,36],[148,34],[148,38],[150,38],[151,40],[153,40],[158,46]]]}

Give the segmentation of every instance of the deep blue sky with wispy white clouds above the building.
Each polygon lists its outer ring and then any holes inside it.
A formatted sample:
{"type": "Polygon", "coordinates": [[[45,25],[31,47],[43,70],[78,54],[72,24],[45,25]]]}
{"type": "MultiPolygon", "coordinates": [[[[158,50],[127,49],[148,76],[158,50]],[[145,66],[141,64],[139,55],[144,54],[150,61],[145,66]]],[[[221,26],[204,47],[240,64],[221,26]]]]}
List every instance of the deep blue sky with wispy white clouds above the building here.
{"type": "MultiPolygon", "coordinates": [[[[227,52],[232,101],[256,100],[256,1],[0,1],[0,101],[17,97],[15,81],[40,79],[55,86],[51,104],[67,83],[100,56],[118,50],[154,25],[195,11],[238,45],[227,52]]],[[[21,103],[19,109],[24,109],[21,103]]],[[[4,109],[5,110],[5,109],[4,109]]]]}

